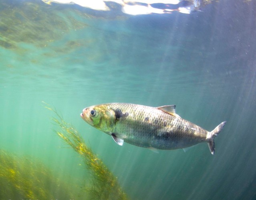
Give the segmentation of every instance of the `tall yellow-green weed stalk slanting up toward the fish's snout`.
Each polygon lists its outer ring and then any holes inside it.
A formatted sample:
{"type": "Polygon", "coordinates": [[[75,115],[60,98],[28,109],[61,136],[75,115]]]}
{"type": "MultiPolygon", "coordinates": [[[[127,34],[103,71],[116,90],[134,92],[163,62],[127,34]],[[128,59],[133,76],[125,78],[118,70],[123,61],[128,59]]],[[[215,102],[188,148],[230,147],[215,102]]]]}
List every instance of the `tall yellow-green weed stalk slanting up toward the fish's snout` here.
{"type": "Polygon", "coordinates": [[[49,105],[46,108],[57,115],[57,118],[52,119],[60,126],[60,131],[55,131],[56,134],[82,156],[85,166],[91,172],[92,186],[85,188],[86,192],[89,192],[91,199],[127,199],[126,194],[117,182],[117,178],[85,144],[79,132],[71,124],[65,122],[56,110],[49,105]]]}

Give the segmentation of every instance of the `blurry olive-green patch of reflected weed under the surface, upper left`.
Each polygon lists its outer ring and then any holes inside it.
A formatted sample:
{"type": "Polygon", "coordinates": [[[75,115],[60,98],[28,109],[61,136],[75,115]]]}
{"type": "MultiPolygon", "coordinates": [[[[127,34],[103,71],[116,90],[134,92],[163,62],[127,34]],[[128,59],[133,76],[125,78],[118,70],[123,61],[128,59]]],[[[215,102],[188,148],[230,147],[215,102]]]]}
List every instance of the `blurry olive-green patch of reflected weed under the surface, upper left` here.
{"type": "MultiPolygon", "coordinates": [[[[76,10],[69,12],[61,6],[52,8],[40,0],[2,0],[0,12],[0,47],[12,50],[20,48],[20,43],[45,48],[65,33],[87,26],[73,16],[76,10]],[[60,10],[67,12],[60,14],[60,10]]],[[[66,45],[67,48],[73,46],[66,45]]]]}

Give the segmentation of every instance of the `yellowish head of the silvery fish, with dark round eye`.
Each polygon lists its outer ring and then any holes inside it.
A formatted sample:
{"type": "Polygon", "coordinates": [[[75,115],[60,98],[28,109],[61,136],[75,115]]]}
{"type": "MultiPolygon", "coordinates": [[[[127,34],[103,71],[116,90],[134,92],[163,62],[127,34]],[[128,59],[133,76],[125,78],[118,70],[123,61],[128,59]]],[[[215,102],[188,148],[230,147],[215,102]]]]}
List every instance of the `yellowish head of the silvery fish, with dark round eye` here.
{"type": "Polygon", "coordinates": [[[87,107],[80,116],[91,126],[109,134],[115,125],[115,112],[106,104],[87,107]]]}

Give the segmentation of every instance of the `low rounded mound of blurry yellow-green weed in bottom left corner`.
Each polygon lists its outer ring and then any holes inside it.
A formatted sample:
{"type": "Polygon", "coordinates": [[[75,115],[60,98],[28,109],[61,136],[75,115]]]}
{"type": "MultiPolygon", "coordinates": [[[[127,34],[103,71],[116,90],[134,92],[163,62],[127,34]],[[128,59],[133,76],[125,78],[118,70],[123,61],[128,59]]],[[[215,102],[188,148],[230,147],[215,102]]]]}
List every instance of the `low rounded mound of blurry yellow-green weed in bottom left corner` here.
{"type": "Polygon", "coordinates": [[[42,163],[0,150],[0,199],[72,199],[42,163]]]}

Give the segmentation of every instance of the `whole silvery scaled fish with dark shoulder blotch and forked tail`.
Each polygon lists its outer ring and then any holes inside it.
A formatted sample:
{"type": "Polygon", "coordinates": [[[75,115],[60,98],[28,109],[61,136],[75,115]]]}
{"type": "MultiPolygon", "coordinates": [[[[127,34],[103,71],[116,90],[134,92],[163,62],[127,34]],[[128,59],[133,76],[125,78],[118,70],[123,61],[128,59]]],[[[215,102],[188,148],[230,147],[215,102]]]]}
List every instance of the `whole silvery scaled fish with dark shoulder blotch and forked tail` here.
{"type": "Polygon", "coordinates": [[[176,114],[175,107],[107,103],[83,109],[81,118],[110,135],[121,146],[126,142],[151,150],[174,150],[207,142],[214,155],[214,138],[226,121],[209,132],[181,118],[176,114]]]}

